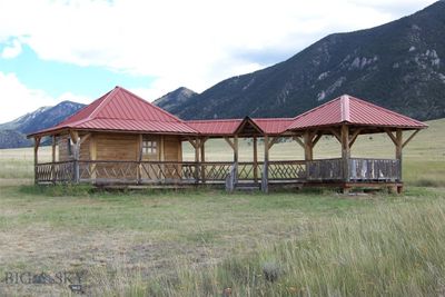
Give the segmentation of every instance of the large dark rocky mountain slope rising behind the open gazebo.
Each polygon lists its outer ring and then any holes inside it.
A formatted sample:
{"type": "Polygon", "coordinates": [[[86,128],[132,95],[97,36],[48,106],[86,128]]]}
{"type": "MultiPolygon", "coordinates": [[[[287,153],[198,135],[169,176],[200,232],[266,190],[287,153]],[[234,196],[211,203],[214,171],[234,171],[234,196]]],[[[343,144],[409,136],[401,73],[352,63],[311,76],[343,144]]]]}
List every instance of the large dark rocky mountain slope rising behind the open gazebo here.
{"type": "Polygon", "coordinates": [[[342,93],[426,120],[445,117],[445,2],[317,41],[287,61],[166,109],[184,119],[291,117],[342,93]]]}

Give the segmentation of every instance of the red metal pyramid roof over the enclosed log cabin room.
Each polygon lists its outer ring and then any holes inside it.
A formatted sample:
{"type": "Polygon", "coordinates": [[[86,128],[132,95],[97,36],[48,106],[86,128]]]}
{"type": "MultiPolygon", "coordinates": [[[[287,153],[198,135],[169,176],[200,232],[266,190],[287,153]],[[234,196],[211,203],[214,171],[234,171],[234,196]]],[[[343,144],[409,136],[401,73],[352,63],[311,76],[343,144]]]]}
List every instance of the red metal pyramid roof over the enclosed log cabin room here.
{"type": "Polygon", "coordinates": [[[185,121],[121,87],[116,87],[56,127],[33,135],[65,128],[197,133],[185,121]]]}

